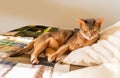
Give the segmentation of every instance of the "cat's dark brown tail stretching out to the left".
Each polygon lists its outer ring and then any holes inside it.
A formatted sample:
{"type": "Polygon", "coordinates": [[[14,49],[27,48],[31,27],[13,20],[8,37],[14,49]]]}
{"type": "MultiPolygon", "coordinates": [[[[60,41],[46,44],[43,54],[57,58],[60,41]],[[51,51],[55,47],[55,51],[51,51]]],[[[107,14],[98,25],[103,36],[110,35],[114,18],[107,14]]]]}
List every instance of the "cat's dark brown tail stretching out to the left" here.
{"type": "Polygon", "coordinates": [[[17,50],[16,52],[14,52],[12,55],[10,56],[19,56],[22,55],[28,51],[30,51],[31,49],[33,49],[33,44],[34,44],[34,40],[32,42],[30,42],[26,47],[17,50]]]}

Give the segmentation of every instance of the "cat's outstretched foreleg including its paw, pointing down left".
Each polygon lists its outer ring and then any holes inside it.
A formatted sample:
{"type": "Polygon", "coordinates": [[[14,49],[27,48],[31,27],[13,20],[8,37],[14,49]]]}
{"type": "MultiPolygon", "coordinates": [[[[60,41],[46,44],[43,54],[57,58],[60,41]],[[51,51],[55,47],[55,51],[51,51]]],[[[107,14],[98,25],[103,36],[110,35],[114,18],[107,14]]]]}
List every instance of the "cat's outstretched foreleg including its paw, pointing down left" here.
{"type": "Polygon", "coordinates": [[[57,57],[60,57],[61,55],[63,55],[68,50],[69,50],[68,45],[61,46],[55,53],[53,53],[50,57],[48,57],[48,61],[49,62],[55,61],[57,59],[57,57]]]}

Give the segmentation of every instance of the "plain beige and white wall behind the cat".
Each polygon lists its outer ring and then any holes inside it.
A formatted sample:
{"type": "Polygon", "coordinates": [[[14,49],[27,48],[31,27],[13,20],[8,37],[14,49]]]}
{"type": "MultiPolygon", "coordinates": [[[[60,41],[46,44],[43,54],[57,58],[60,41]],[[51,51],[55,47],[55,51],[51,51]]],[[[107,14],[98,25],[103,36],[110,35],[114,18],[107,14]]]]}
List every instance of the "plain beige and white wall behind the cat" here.
{"type": "Polygon", "coordinates": [[[120,0],[0,0],[0,32],[29,24],[77,27],[77,18],[120,20],[120,0]]]}

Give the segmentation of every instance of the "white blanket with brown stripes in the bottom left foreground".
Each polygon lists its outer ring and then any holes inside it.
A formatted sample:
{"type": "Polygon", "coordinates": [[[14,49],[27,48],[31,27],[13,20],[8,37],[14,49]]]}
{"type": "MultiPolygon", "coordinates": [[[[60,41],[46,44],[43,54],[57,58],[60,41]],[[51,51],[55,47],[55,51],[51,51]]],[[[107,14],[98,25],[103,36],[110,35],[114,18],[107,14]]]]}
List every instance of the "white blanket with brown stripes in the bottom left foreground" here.
{"type": "Polygon", "coordinates": [[[69,70],[69,65],[51,67],[0,60],[0,78],[57,78],[69,70]]]}

